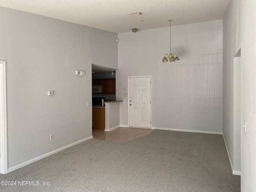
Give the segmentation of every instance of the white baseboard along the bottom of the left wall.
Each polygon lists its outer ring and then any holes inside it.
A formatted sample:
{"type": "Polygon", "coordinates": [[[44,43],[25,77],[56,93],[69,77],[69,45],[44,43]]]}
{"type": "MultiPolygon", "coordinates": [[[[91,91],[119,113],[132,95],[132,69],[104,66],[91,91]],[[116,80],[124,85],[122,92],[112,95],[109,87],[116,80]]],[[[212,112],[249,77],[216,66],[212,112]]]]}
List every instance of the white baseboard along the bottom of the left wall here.
{"type": "Polygon", "coordinates": [[[14,170],[16,170],[16,169],[22,168],[22,167],[24,167],[24,166],[26,166],[26,165],[28,165],[28,164],[34,163],[34,162],[36,162],[36,161],[38,161],[38,160],[41,160],[41,159],[43,159],[43,158],[46,158],[46,157],[48,157],[48,156],[50,156],[50,155],[53,155],[53,154],[55,154],[55,153],[58,153],[58,152],[60,152],[60,151],[62,151],[62,150],[65,150],[65,149],[67,149],[67,148],[70,148],[70,147],[72,147],[72,146],[75,146],[75,145],[77,145],[77,144],[80,144],[80,143],[82,143],[82,142],[84,142],[84,141],[86,141],[86,140],[92,139],[92,138],[93,138],[92,136],[87,137],[87,138],[85,138],[85,139],[82,139],[82,140],[80,140],[80,141],[74,142],[74,143],[69,144],[69,145],[67,145],[67,146],[64,146],[64,147],[62,147],[62,148],[56,149],[56,150],[54,150],[54,151],[52,151],[52,152],[49,152],[49,153],[46,153],[46,154],[41,155],[41,156],[39,156],[39,157],[36,157],[36,158],[34,158],[34,159],[28,160],[28,161],[26,161],[26,162],[24,162],[24,163],[21,163],[21,164],[18,164],[18,165],[16,165],[16,166],[13,166],[13,167],[11,167],[11,168],[8,168],[8,173],[9,173],[9,172],[12,172],[12,171],[14,171],[14,170]]]}

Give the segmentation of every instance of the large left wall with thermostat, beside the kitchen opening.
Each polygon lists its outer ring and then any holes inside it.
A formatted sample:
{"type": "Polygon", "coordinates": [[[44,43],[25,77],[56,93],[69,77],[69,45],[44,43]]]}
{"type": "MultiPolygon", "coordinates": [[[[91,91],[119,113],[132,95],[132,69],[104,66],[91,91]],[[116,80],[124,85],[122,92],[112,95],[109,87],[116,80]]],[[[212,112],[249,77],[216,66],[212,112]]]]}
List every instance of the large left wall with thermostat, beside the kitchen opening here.
{"type": "Polygon", "coordinates": [[[107,47],[110,56],[104,56],[104,65],[117,68],[117,34],[2,7],[0,26],[0,60],[6,60],[7,71],[8,168],[90,138],[92,108],[86,102],[92,100],[91,65],[102,64],[91,53],[107,47]],[[86,75],[76,76],[76,70],[86,75]],[[50,90],[54,96],[47,96],[50,90]]]}

